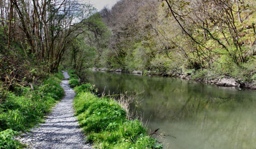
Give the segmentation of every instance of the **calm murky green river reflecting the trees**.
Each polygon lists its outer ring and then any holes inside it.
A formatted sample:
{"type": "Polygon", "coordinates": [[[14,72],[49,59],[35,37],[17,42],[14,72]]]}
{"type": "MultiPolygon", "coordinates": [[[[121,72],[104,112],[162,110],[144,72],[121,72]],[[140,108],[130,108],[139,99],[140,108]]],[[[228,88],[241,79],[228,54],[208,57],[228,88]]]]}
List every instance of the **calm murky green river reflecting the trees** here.
{"type": "Polygon", "coordinates": [[[143,117],[164,148],[256,148],[256,92],[179,78],[93,71],[100,92],[138,92],[143,117]]]}

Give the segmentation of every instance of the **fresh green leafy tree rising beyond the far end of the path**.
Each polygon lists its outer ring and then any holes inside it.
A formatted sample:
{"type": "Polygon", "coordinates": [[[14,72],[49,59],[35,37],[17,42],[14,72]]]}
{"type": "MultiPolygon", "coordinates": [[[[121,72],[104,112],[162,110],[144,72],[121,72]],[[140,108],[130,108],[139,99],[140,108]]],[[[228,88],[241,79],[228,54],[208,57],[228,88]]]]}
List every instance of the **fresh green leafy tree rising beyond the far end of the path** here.
{"type": "Polygon", "coordinates": [[[72,66],[77,72],[92,66],[104,67],[102,61],[107,61],[104,55],[108,52],[111,32],[102,22],[100,14],[94,13],[84,19],[81,29],[84,31],[83,34],[72,38],[62,64],[72,66]]]}

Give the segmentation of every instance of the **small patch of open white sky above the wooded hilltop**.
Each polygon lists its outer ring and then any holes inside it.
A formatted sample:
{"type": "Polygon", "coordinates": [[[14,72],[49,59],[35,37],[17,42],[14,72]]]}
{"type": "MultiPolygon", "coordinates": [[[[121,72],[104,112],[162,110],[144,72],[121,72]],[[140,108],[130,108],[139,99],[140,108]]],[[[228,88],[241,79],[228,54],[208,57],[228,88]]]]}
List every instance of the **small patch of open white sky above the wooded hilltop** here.
{"type": "Polygon", "coordinates": [[[118,0],[84,0],[86,2],[90,2],[90,4],[93,4],[95,8],[97,8],[98,11],[102,10],[104,6],[107,6],[108,8],[111,8],[118,0]]]}

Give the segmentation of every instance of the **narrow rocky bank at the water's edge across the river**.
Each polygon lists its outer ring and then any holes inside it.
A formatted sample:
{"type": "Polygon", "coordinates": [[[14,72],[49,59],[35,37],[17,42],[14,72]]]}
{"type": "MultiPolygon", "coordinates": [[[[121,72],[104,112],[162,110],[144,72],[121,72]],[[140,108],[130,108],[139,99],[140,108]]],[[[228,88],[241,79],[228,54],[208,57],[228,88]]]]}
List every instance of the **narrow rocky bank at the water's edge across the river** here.
{"type": "Polygon", "coordinates": [[[256,90],[256,80],[251,82],[244,82],[243,78],[234,78],[228,74],[218,74],[209,76],[205,71],[191,71],[189,73],[163,73],[160,71],[125,71],[123,69],[108,69],[108,68],[92,68],[93,71],[108,71],[116,73],[132,73],[136,75],[147,76],[166,76],[181,78],[184,80],[193,80],[195,82],[209,83],[220,87],[239,87],[240,89],[256,90]]]}

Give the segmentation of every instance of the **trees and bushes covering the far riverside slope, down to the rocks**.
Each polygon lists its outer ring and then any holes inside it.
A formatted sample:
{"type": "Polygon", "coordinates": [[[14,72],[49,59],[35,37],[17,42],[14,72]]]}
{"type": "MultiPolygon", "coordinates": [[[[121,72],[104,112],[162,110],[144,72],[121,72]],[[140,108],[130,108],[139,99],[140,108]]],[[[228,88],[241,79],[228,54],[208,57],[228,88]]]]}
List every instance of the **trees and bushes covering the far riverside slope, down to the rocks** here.
{"type": "Polygon", "coordinates": [[[256,84],[253,0],[121,0],[88,22],[97,32],[88,32],[86,46],[81,41],[81,48],[70,50],[67,62],[76,70],[94,66],[256,84]]]}

